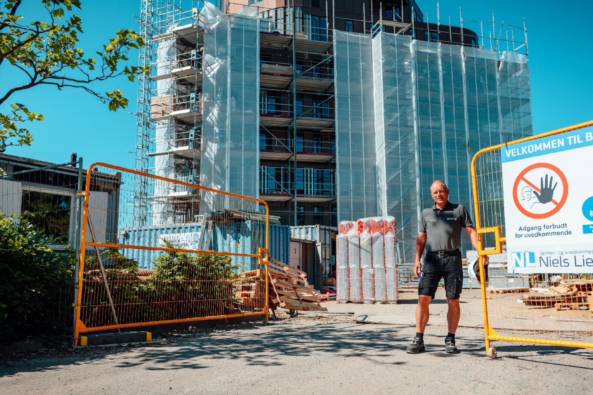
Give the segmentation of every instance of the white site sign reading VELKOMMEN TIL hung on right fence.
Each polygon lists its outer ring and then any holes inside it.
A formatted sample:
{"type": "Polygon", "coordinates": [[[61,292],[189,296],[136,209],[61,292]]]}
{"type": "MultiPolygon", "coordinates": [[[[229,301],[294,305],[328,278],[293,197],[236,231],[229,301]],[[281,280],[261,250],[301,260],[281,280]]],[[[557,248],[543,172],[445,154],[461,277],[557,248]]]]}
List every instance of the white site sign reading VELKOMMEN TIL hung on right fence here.
{"type": "Polygon", "coordinates": [[[593,130],[500,149],[509,273],[593,272],[593,130]]]}

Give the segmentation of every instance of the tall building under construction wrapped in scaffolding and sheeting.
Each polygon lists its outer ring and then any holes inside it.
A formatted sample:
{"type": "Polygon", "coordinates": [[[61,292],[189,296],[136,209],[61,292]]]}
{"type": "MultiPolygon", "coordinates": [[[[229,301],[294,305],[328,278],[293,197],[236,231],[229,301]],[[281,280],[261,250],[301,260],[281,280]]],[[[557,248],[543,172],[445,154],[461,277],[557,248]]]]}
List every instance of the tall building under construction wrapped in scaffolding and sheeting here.
{"type": "MultiPolygon", "coordinates": [[[[391,215],[413,262],[432,181],[473,211],[473,155],[533,134],[524,25],[454,19],[414,0],[142,0],[136,170],[287,225],[391,215]]],[[[170,188],[138,180],[139,223],[197,220],[208,197],[170,188]]]]}

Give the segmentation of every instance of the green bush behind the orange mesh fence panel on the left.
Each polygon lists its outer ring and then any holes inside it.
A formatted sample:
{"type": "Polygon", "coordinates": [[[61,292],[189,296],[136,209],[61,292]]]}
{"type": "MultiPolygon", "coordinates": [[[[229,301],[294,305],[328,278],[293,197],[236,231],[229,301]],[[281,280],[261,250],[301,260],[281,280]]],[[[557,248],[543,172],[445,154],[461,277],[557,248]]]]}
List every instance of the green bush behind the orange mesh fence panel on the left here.
{"type": "MultiPolygon", "coordinates": [[[[165,242],[167,248],[173,248],[165,242]]],[[[154,274],[138,278],[138,262],[117,249],[101,252],[120,324],[219,316],[234,312],[231,277],[242,268],[230,256],[166,252],[154,274]]],[[[114,325],[103,277],[95,257],[85,259],[81,320],[87,326],[114,325]]]]}

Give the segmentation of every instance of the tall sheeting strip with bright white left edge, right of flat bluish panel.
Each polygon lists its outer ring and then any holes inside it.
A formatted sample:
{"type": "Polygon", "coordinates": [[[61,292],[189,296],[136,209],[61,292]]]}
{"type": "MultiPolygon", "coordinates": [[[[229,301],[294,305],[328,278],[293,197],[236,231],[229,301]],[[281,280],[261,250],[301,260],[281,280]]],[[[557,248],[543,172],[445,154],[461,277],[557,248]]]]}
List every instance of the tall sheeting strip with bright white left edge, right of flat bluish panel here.
{"type": "MultiPolygon", "coordinates": [[[[379,213],[396,218],[397,238],[417,235],[416,68],[409,36],[372,41],[379,213]]],[[[404,252],[406,245],[404,245],[404,252]]]]}

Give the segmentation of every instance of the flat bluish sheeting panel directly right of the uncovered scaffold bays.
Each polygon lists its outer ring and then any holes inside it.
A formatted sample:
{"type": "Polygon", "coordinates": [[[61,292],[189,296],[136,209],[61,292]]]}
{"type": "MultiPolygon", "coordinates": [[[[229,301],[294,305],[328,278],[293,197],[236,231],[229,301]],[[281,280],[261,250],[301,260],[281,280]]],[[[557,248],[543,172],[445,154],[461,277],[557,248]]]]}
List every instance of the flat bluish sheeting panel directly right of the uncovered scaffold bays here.
{"type": "Polygon", "coordinates": [[[343,219],[377,214],[371,36],[334,31],[336,191],[343,219]]]}

